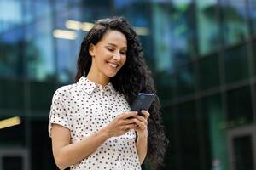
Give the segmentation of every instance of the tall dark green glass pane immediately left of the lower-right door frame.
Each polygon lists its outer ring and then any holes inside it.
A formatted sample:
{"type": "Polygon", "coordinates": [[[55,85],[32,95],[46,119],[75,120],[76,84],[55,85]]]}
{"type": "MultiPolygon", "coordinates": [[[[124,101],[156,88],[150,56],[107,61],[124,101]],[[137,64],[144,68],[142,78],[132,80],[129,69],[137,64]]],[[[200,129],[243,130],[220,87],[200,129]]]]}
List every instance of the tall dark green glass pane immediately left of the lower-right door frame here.
{"type": "MultiPolygon", "coordinates": [[[[229,169],[226,131],[224,128],[224,108],[220,94],[201,99],[201,116],[206,141],[207,168],[214,169],[216,162],[222,169],[229,169]]],[[[201,144],[206,145],[206,144],[201,144]]],[[[217,165],[216,165],[217,166],[217,165]]],[[[215,167],[217,168],[217,167],[215,167]]]]}

